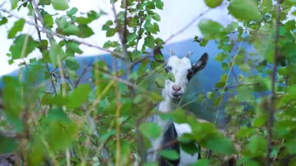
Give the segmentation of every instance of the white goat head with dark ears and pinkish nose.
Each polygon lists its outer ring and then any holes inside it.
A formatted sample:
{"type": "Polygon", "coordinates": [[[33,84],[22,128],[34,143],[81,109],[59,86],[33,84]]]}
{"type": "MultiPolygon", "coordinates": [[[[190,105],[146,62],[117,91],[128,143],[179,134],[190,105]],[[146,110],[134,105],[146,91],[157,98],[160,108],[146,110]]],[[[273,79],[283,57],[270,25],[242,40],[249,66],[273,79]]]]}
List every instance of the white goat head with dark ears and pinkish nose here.
{"type": "MultiPolygon", "coordinates": [[[[156,47],[154,54],[161,54],[159,47],[156,47]]],[[[169,97],[172,100],[181,100],[183,94],[185,94],[190,79],[199,71],[201,71],[208,61],[208,54],[203,53],[202,57],[193,65],[191,65],[188,56],[182,59],[178,58],[173,52],[167,61],[158,61],[164,64],[166,72],[171,72],[175,77],[175,82],[171,80],[165,80],[165,97],[169,97]]]]}

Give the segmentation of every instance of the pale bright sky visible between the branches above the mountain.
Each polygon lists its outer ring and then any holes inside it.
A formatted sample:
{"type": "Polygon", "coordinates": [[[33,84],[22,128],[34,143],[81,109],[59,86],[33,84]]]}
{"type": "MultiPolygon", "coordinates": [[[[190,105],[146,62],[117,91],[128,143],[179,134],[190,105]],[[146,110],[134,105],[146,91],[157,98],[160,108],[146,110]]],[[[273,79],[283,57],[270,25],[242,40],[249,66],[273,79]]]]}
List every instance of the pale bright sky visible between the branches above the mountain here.
{"type": "MultiPolygon", "coordinates": [[[[164,1],[164,9],[157,10],[158,14],[161,16],[161,21],[159,22],[160,33],[155,35],[155,37],[160,37],[166,40],[170,35],[180,31],[185,25],[187,25],[193,18],[197,17],[204,11],[208,9],[208,7],[204,4],[203,0],[163,0],[164,1]]],[[[107,38],[106,32],[101,31],[102,25],[109,19],[114,19],[111,10],[110,0],[70,0],[69,2],[70,8],[77,7],[78,13],[86,13],[90,10],[100,11],[103,10],[107,13],[106,16],[100,17],[98,20],[93,21],[90,24],[94,35],[86,39],[79,39],[80,41],[84,41],[87,43],[91,43],[93,45],[97,45],[102,47],[105,41],[107,40],[118,40],[118,35],[115,35],[113,38],[107,38]]],[[[120,11],[119,8],[120,3],[116,3],[116,11],[120,11]]],[[[223,3],[221,6],[211,9],[208,13],[203,15],[201,18],[210,18],[215,20],[222,25],[226,25],[234,20],[233,17],[228,15],[226,10],[226,5],[223,3]]],[[[2,8],[6,10],[10,10],[9,0],[6,0],[6,3],[2,6],[2,8]]],[[[50,14],[56,14],[57,12],[53,10],[52,6],[46,6],[46,11],[50,14]]],[[[19,11],[12,11],[14,16],[25,18],[27,21],[34,22],[32,17],[27,16],[27,9],[22,8],[19,11]]],[[[59,11],[57,16],[65,14],[66,11],[59,11]]],[[[57,17],[56,16],[56,17],[57,17]]],[[[5,26],[0,26],[0,76],[8,74],[13,70],[18,68],[18,64],[20,62],[26,61],[28,62],[30,58],[40,57],[39,51],[33,51],[27,58],[16,60],[15,64],[9,65],[6,53],[9,52],[9,47],[12,44],[12,39],[7,39],[7,32],[13,26],[14,22],[19,18],[9,19],[9,22],[5,26]]],[[[168,43],[175,43],[179,41],[183,41],[186,39],[192,39],[195,35],[201,36],[201,32],[198,29],[198,21],[193,23],[185,32],[179,34],[178,36],[172,38],[168,43]]],[[[37,32],[34,26],[26,24],[21,33],[31,34],[35,39],[37,39],[37,32]]],[[[42,34],[42,38],[45,38],[45,34],[42,34]]],[[[72,37],[72,36],[71,36],[72,37]]],[[[75,38],[75,36],[73,36],[75,38]]],[[[142,43],[140,43],[141,45],[142,43]]],[[[89,55],[98,55],[104,54],[106,52],[102,50],[98,50],[95,48],[90,48],[84,45],[80,46],[80,49],[83,50],[83,54],[77,56],[89,56],[89,55]]]]}

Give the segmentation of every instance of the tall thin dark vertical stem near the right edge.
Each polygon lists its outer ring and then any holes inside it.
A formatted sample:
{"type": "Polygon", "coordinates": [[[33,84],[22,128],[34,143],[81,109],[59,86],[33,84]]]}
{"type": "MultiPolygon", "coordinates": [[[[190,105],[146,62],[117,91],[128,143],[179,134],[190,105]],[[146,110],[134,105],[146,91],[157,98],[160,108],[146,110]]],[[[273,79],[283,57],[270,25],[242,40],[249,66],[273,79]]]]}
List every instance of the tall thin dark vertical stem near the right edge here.
{"type": "MultiPolygon", "coordinates": [[[[280,2],[277,0],[277,17],[276,17],[276,25],[279,24],[280,21],[280,2]]],[[[276,27],[276,36],[275,36],[275,46],[274,46],[274,56],[273,56],[273,70],[272,70],[272,83],[271,83],[271,97],[270,97],[270,109],[268,114],[268,122],[267,122],[267,154],[266,154],[266,166],[271,166],[272,158],[272,128],[273,128],[273,121],[274,121],[274,112],[275,112],[275,105],[274,101],[276,98],[275,94],[275,86],[276,86],[276,75],[277,75],[277,56],[278,56],[278,40],[279,40],[279,28],[276,27]]]]}

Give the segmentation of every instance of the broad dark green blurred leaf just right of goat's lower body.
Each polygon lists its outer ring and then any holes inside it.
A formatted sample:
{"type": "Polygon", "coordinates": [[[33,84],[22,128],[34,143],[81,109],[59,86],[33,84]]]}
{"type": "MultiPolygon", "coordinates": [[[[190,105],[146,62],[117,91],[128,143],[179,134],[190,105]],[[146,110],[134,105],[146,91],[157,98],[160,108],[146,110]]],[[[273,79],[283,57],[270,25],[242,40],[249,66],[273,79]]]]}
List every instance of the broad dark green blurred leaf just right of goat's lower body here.
{"type": "Polygon", "coordinates": [[[236,152],[231,140],[224,137],[209,138],[206,145],[208,148],[214,151],[227,154],[227,155],[230,155],[236,152]]]}

